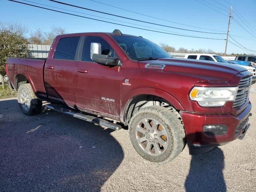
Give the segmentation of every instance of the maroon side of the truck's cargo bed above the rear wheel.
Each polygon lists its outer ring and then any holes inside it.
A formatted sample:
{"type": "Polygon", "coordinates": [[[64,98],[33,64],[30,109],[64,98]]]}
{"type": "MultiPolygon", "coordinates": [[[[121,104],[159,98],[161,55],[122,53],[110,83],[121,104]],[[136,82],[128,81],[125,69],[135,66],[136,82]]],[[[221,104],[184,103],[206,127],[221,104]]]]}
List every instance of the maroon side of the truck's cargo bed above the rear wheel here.
{"type": "Polygon", "coordinates": [[[46,99],[47,94],[44,88],[43,79],[45,62],[46,59],[8,58],[7,75],[13,88],[15,90],[18,89],[18,83],[20,83],[20,81],[17,82],[17,76],[25,76],[26,79],[28,79],[30,82],[36,96],[42,99],[46,99]]]}

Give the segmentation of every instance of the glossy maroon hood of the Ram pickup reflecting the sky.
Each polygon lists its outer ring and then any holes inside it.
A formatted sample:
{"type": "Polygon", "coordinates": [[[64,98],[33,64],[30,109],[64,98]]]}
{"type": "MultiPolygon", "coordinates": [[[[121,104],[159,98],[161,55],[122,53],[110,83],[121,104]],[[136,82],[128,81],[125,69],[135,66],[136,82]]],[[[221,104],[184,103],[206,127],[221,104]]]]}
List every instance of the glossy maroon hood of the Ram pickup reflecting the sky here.
{"type": "Polygon", "coordinates": [[[234,75],[246,71],[245,68],[227,63],[202,61],[180,58],[160,58],[158,60],[138,61],[140,68],[148,70],[162,70],[170,74],[198,77],[200,81],[228,82],[234,75]],[[147,64],[158,64],[156,67],[147,64]],[[164,66],[160,69],[160,66],[164,66]]]}

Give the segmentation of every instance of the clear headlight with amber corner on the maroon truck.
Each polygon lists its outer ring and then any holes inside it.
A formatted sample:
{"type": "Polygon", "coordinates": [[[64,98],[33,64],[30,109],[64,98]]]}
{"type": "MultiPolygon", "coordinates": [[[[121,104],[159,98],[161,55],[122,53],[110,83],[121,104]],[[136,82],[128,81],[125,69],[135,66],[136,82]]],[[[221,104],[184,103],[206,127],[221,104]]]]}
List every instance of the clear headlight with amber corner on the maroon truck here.
{"type": "Polygon", "coordinates": [[[224,106],[228,101],[234,101],[237,89],[237,87],[194,87],[189,96],[200,106],[218,107],[224,106]]]}

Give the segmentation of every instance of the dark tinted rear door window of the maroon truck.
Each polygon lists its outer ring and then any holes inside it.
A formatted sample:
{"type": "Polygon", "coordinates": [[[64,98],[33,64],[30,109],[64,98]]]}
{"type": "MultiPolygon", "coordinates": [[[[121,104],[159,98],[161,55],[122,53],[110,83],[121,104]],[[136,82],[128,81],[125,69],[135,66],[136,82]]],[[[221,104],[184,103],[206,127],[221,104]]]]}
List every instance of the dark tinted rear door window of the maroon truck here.
{"type": "Polygon", "coordinates": [[[76,48],[80,37],[66,37],[60,39],[57,44],[54,59],[74,60],[76,48]]]}

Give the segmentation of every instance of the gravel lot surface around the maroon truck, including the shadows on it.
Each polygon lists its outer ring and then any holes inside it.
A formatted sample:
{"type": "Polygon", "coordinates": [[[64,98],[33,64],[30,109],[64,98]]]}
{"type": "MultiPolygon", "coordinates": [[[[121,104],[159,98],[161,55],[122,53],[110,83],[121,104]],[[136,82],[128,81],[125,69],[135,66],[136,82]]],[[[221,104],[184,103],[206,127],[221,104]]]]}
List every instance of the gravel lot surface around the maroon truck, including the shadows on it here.
{"type": "Polygon", "coordinates": [[[186,146],[164,165],[138,156],[126,129],[51,110],[26,116],[16,98],[0,100],[0,191],[256,191],[255,93],[250,100],[243,140],[195,156],[186,146]]]}

